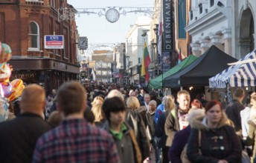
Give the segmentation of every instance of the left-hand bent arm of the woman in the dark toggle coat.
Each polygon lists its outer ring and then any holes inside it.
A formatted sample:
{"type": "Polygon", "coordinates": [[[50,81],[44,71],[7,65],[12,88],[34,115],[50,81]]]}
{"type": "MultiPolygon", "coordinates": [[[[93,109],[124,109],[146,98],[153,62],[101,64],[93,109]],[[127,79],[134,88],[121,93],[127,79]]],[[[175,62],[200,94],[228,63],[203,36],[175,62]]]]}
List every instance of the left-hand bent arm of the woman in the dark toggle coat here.
{"type": "MultiPolygon", "coordinates": [[[[191,135],[188,139],[187,155],[191,162],[196,163],[217,163],[220,160],[208,156],[203,156],[199,153],[199,130],[191,129],[191,135]]],[[[202,133],[201,133],[202,134],[202,133]]]]}

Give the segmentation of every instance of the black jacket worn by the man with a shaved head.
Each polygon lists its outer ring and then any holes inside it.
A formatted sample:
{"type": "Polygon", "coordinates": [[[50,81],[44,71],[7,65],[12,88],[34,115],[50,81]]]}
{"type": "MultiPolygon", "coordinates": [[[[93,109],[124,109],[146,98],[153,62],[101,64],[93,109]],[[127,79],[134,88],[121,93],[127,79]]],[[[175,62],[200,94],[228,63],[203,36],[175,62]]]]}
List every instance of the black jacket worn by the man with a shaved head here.
{"type": "Polygon", "coordinates": [[[50,130],[44,120],[33,113],[22,113],[0,123],[0,162],[29,163],[39,136],[50,130]]]}

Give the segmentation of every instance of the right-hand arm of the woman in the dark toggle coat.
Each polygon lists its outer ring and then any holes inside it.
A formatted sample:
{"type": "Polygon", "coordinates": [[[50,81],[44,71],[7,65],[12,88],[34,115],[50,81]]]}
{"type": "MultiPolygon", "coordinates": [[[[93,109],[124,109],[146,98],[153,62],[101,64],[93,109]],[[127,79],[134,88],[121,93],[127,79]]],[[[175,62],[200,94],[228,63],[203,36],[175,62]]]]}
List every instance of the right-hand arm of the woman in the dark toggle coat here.
{"type": "Polygon", "coordinates": [[[237,162],[237,160],[241,160],[242,157],[242,144],[238,139],[237,134],[234,131],[233,127],[227,127],[228,132],[228,144],[232,144],[232,152],[229,154],[225,160],[227,162],[237,162]]]}

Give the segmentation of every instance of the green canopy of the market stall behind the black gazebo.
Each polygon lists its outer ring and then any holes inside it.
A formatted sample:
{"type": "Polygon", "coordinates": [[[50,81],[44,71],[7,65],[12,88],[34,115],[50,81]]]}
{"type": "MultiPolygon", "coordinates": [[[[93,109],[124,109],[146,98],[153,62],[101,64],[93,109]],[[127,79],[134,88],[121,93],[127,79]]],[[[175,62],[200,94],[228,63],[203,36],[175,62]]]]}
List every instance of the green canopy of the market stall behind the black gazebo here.
{"type": "Polygon", "coordinates": [[[161,89],[161,84],[163,83],[162,80],[165,79],[168,76],[173,75],[173,73],[177,73],[179,70],[182,70],[183,68],[187,67],[189,64],[191,64],[193,61],[197,59],[196,56],[190,55],[188,58],[184,59],[180,64],[177,64],[175,67],[171,68],[170,70],[167,70],[164,74],[161,74],[160,76],[157,76],[155,79],[150,80],[150,87],[155,89],[161,89]]]}

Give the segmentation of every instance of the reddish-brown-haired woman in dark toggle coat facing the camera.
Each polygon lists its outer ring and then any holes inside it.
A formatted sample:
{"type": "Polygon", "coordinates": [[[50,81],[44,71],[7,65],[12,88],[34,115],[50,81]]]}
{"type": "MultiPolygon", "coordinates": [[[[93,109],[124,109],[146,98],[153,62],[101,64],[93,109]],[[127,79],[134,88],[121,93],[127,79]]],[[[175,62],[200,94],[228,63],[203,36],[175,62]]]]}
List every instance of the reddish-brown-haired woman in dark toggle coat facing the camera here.
{"type": "Polygon", "coordinates": [[[234,131],[234,124],[215,100],[205,105],[205,118],[191,122],[188,139],[188,159],[191,162],[241,162],[242,146],[234,131]]]}

